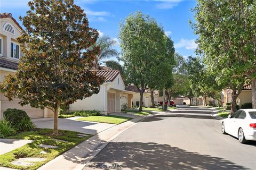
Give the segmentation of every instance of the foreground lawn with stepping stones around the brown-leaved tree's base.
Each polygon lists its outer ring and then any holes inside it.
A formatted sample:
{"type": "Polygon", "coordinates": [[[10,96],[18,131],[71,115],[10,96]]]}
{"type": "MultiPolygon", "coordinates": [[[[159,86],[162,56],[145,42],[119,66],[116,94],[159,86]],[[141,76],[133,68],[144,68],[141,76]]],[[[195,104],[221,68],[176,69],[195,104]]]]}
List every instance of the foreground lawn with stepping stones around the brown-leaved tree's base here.
{"type": "Polygon", "coordinates": [[[91,136],[92,135],[89,135],[88,137],[84,137],[84,138],[79,138],[77,137],[77,132],[59,130],[59,136],[53,137],[51,129],[36,129],[34,131],[21,132],[15,136],[11,136],[8,138],[28,139],[28,140],[34,140],[34,142],[28,143],[23,147],[17,148],[11,152],[0,155],[0,166],[10,167],[15,169],[37,169],[38,167],[44,165],[45,163],[54,159],[58,155],[67,151],[68,149],[75,147],[76,145],[90,138],[91,136]],[[56,140],[53,140],[52,138],[65,140],[67,142],[56,141],[56,140]],[[40,144],[58,146],[58,148],[57,149],[40,148],[38,147],[38,145],[40,144]],[[41,154],[40,153],[41,151],[45,151],[47,152],[47,154],[41,154]],[[35,163],[35,165],[27,166],[27,167],[15,166],[11,164],[13,160],[17,160],[23,157],[46,158],[46,160],[42,162],[37,162],[35,163]]]}

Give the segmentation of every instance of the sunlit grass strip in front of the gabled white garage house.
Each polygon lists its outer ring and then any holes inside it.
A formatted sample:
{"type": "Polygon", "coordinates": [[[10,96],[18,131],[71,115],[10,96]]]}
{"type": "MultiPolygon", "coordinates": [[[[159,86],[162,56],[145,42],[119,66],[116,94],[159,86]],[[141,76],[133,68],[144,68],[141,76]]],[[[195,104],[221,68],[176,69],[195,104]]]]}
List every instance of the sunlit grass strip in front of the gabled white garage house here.
{"type": "Polygon", "coordinates": [[[111,124],[120,124],[131,120],[131,117],[123,117],[123,116],[89,116],[89,117],[81,117],[78,118],[78,121],[89,121],[89,122],[100,122],[100,123],[111,123],[111,124]]]}

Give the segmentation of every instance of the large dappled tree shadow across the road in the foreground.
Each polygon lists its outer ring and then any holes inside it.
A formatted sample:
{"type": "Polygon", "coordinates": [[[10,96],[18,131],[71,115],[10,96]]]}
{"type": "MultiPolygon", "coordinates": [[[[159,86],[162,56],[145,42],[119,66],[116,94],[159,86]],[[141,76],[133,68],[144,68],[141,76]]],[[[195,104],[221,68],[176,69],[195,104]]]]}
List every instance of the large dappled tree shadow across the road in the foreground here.
{"type": "Polygon", "coordinates": [[[110,142],[84,169],[248,169],[229,160],[153,142],[110,142]]]}

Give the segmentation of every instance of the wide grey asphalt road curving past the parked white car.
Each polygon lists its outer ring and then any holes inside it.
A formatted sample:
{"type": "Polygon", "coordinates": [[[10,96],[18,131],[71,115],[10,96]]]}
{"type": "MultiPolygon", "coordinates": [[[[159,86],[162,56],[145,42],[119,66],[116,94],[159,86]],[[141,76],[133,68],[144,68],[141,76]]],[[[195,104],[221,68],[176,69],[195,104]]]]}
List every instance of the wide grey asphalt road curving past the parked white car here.
{"type": "Polygon", "coordinates": [[[256,142],[221,133],[210,109],[180,108],[118,135],[84,169],[256,169],[256,142]]]}

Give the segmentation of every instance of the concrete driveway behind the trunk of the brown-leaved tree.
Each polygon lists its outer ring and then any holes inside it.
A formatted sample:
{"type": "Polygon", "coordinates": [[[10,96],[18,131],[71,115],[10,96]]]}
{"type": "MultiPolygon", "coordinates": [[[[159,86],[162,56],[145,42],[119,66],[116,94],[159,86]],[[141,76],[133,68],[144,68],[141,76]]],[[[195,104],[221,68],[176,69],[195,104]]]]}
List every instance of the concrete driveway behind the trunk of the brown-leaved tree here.
{"type": "MultiPolygon", "coordinates": [[[[97,134],[103,130],[115,126],[115,124],[76,121],[76,117],[58,118],[58,129],[76,131],[85,134],[97,134]]],[[[53,128],[53,118],[35,118],[32,120],[37,128],[53,128]]]]}

